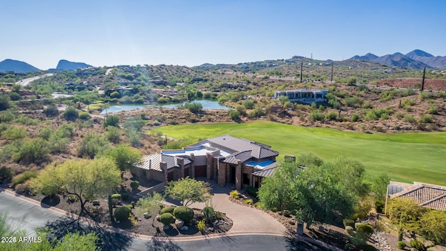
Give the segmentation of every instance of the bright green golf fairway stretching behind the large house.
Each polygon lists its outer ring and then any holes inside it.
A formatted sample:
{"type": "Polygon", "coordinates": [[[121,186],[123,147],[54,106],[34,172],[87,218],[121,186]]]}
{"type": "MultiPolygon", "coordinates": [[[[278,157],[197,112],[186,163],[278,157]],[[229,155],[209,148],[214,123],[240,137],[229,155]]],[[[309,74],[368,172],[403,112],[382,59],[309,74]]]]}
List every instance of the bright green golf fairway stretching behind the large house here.
{"type": "Polygon", "coordinates": [[[330,128],[306,128],[270,121],[163,126],[176,139],[205,139],[219,135],[243,137],[267,144],[284,155],[313,152],[325,161],[356,158],[371,175],[387,173],[392,180],[446,185],[446,132],[371,134],[330,128]]]}

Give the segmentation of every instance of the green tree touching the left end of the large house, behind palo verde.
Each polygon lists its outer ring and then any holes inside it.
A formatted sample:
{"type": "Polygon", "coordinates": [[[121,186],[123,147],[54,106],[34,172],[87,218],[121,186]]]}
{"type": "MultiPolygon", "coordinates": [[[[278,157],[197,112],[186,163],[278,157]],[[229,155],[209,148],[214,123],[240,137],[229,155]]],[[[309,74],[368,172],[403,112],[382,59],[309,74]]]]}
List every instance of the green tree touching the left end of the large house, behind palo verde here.
{"type": "Polygon", "coordinates": [[[122,173],[139,166],[142,158],[141,151],[127,144],[118,144],[105,155],[114,161],[122,173]]]}

